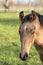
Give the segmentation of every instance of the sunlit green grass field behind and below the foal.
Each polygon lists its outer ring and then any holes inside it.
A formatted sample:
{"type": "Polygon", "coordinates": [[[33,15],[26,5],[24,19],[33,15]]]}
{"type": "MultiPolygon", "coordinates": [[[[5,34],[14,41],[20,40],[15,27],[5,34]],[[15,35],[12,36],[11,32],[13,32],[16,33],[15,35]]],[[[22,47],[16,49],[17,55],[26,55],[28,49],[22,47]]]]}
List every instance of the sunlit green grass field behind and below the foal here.
{"type": "Polygon", "coordinates": [[[0,13],[0,65],[41,65],[34,45],[27,61],[19,58],[19,26],[18,13],[0,13]]]}

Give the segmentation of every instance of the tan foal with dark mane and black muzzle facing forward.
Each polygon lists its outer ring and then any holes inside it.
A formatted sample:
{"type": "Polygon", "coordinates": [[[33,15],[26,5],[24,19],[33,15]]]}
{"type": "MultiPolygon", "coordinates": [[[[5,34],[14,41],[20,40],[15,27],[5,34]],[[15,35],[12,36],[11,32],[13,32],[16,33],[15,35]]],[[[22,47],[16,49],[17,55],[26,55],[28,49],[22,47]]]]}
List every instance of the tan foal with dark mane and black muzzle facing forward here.
{"type": "Polygon", "coordinates": [[[19,13],[21,21],[19,35],[21,42],[20,58],[25,61],[29,57],[30,49],[34,44],[43,64],[43,15],[32,10],[30,14],[19,13]]]}

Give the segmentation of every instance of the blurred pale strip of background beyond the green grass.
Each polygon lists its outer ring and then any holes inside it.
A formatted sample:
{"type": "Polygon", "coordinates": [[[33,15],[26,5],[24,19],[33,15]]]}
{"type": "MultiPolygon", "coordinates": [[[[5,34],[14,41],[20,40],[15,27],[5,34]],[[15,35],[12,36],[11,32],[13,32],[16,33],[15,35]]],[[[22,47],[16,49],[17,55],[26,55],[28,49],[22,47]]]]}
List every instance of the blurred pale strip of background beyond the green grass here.
{"type": "Polygon", "coordinates": [[[0,0],[0,11],[43,10],[43,0],[0,0]]]}

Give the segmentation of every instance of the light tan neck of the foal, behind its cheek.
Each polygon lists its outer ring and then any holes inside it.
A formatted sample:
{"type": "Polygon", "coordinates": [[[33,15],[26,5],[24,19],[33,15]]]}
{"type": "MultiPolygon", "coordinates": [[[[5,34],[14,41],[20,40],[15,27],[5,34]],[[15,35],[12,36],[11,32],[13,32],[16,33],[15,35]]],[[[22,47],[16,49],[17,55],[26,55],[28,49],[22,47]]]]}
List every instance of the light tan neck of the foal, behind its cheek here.
{"type": "Polygon", "coordinates": [[[37,43],[37,45],[41,45],[43,47],[43,27],[41,27],[40,22],[36,21],[36,23],[34,23],[36,26],[36,38],[35,38],[35,42],[37,43]]]}

